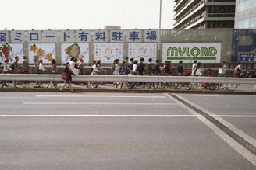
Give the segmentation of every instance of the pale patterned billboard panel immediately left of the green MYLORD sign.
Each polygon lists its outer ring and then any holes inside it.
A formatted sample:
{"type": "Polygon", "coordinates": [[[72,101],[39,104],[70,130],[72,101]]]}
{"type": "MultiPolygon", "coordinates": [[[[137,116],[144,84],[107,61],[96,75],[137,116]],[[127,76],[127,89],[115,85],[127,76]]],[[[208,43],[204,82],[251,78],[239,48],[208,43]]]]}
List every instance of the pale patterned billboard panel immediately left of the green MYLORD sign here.
{"type": "Polygon", "coordinates": [[[148,61],[152,58],[156,61],[157,56],[157,43],[129,43],[128,57],[134,58],[134,60],[140,61],[144,58],[144,61],[148,61]]]}

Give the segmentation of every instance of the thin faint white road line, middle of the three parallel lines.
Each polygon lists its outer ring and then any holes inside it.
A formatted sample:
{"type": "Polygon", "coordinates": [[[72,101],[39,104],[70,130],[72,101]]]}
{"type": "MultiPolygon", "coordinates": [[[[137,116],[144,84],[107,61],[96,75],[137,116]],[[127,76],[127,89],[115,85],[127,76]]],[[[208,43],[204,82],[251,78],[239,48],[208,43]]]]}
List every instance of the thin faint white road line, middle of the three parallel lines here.
{"type": "Polygon", "coordinates": [[[176,103],[133,103],[133,102],[23,102],[24,105],[177,105],[176,103]]]}

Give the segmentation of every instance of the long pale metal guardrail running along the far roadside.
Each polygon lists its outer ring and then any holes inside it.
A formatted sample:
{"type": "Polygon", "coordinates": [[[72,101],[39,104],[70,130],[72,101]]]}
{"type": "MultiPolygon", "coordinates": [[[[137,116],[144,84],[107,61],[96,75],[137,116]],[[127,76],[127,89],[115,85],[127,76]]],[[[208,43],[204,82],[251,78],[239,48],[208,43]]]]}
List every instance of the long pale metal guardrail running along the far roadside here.
{"type": "MultiPolygon", "coordinates": [[[[222,78],[197,76],[140,76],[140,75],[76,75],[75,82],[190,82],[232,83],[256,85],[256,78],[222,78]]],[[[0,81],[63,81],[62,75],[1,74],[0,81]]]]}

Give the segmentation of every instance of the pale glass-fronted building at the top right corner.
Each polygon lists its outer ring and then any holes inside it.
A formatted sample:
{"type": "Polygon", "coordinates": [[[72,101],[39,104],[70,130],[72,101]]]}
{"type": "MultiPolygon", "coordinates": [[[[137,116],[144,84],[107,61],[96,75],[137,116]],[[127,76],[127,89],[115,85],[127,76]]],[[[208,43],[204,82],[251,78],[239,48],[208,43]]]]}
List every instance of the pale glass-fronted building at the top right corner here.
{"type": "Polygon", "coordinates": [[[235,28],[256,28],[256,0],[236,0],[235,28]]]}

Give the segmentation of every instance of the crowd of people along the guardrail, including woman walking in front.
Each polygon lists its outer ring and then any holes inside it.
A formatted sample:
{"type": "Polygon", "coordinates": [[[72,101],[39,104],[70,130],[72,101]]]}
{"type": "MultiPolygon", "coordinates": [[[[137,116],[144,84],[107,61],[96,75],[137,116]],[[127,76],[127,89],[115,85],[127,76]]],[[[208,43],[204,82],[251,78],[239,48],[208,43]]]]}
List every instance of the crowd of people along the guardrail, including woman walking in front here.
{"type": "MultiPolygon", "coordinates": [[[[23,63],[19,63],[20,58],[18,56],[15,57],[15,61],[11,64],[9,64],[9,60],[5,60],[2,73],[29,73],[29,64],[27,61],[27,56],[23,56],[23,63]]],[[[35,64],[35,73],[37,74],[44,74],[44,73],[57,73],[57,64],[55,59],[51,62],[51,70],[47,70],[44,68],[43,60],[40,60],[38,63],[35,64]]],[[[1,64],[1,63],[0,63],[1,64]]],[[[1,67],[0,67],[1,68],[1,67]]],[[[219,76],[225,76],[226,75],[226,63],[222,62],[219,64],[219,76]]],[[[236,68],[234,69],[234,73],[236,77],[239,77],[241,74],[241,64],[238,63],[236,68]]],[[[66,63],[66,67],[63,71],[62,79],[65,80],[65,83],[62,85],[62,88],[60,88],[60,91],[66,86],[66,84],[69,85],[69,88],[71,92],[73,92],[73,88],[71,85],[71,75],[86,75],[86,69],[84,67],[84,60],[81,59],[79,62],[76,58],[72,57],[71,60],[66,63]]],[[[101,68],[101,61],[93,61],[93,64],[91,66],[91,75],[102,75],[105,74],[106,70],[101,68]]],[[[201,63],[194,61],[194,64],[192,65],[192,68],[190,71],[184,71],[183,69],[183,61],[179,61],[179,64],[176,68],[172,68],[171,61],[165,61],[163,64],[163,67],[161,67],[161,60],[156,60],[155,63],[153,63],[152,58],[148,59],[148,62],[146,63],[144,61],[144,58],[141,58],[140,61],[134,60],[133,58],[126,57],[122,63],[120,63],[119,59],[116,59],[114,63],[112,64],[111,68],[112,75],[192,75],[192,76],[201,76],[204,74],[204,69],[201,68],[201,63]]],[[[114,82],[115,83],[115,82],[114,82]]],[[[101,82],[103,84],[103,82],[101,82]]],[[[77,85],[79,85],[77,83],[77,85]]]]}

